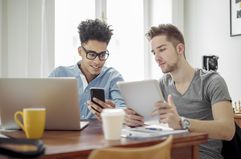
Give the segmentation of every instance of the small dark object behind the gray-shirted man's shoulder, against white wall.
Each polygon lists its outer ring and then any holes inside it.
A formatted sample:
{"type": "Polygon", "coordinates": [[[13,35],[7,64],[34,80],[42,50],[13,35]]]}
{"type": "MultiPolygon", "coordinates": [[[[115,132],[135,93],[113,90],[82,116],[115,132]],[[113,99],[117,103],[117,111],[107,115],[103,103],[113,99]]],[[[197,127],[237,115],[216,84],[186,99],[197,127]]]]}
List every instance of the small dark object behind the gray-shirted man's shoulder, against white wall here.
{"type": "Polygon", "coordinates": [[[209,55],[203,56],[203,69],[217,71],[218,69],[218,56],[209,55]]]}

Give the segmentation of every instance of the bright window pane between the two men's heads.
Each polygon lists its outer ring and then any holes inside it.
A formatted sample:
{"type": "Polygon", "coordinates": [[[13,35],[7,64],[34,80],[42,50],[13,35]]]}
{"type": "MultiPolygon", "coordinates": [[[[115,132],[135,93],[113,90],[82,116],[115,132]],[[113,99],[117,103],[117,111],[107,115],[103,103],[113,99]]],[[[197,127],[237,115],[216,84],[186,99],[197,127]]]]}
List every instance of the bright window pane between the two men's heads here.
{"type": "Polygon", "coordinates": [[[107,1],[107,21],[114,29],[114,35],[109,44],[110,57],[107,65],[115,67],[127,81],[143,79],[144,30],[142,1],[107,1]],[[126,16],[127,13],[130,14],[126,16]]]}

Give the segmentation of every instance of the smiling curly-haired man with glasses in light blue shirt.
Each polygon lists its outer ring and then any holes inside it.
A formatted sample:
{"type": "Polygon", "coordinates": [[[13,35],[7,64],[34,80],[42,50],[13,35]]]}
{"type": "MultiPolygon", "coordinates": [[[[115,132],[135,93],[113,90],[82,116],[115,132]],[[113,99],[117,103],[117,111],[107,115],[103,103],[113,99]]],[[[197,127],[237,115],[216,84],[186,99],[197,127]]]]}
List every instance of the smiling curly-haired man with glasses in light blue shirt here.
{"type": "Polygon", "coordinates": [[[116,85],[123,81],[119,72],[104,66],[109,52],[108,43],[113,35],[112,29],[98,19],[82,21],[78,26],[81,46],[78,48],[81,60],[69,67],[60,66],[50,73],[50,77],[75,77],[78,81],[81,119],[100,118],[104,108],[124,107],[125,103],[116,85]],[[90,88],[102,87],[107,100],[90,101],[90,88]]]}

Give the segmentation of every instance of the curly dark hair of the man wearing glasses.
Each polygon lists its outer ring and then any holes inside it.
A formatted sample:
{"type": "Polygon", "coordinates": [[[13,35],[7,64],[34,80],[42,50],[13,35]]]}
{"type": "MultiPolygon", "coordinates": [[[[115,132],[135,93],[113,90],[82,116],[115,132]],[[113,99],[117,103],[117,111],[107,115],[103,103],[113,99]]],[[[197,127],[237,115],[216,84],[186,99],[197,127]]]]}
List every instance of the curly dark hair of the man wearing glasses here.
{"type": "Polygon", "coordinates": [[[81,44],[89,40],[102,41],[108,44],[113,35],[113,29],[110,29],[110,25],[99,19],[82,21],[78,30],[81,44]]]}

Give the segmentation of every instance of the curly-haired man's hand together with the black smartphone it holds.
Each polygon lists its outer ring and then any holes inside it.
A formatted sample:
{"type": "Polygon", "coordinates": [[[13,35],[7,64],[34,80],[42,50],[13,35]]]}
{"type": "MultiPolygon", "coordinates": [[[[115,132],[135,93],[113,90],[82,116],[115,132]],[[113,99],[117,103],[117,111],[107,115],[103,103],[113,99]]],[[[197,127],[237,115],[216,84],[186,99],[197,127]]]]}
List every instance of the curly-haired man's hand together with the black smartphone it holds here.
{"type": "Polygon", "coordinates": [[[90,89],[91,100],[87,102],[89,110],[101,120],[100,113],[105,108],[115,108],[115,104],[110,100],[105,100],[103,88],[93,87],[90,89]]]}

